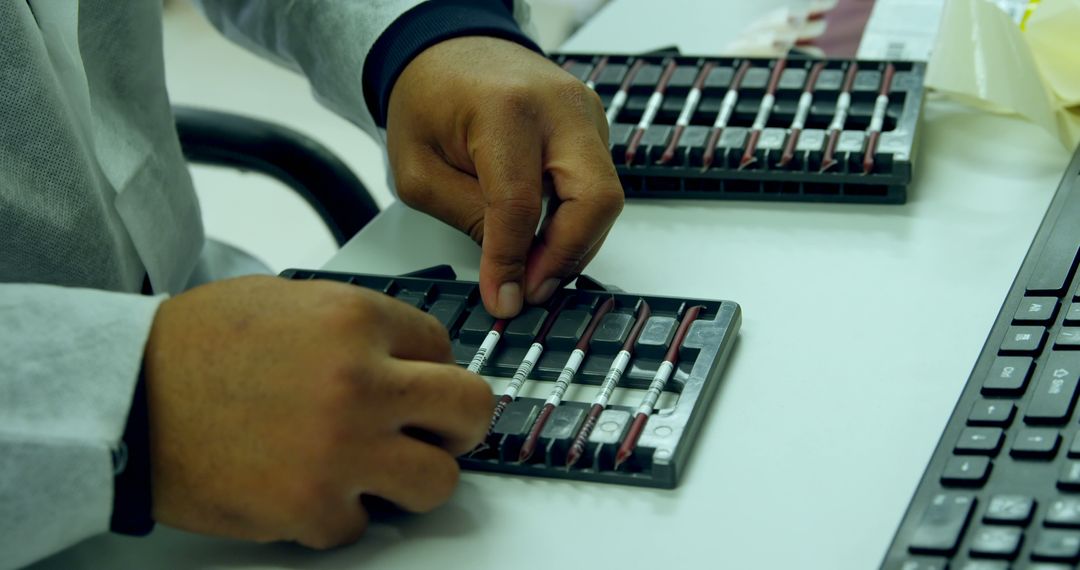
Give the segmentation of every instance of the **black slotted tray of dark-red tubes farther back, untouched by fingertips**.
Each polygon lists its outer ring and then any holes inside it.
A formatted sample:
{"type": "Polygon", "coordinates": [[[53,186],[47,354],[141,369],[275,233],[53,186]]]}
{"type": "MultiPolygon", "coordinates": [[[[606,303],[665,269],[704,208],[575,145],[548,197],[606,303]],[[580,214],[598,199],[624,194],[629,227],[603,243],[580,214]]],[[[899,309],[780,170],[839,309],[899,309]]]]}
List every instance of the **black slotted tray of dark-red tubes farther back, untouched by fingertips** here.
{"type": "Polygon", "coordinates": [[[769,84],[775,58],[706,57],[672,54],[555,54],[551,56],[582,81],[594,68],[605,68],[594,79],[593,87],[607,109],[637,60],[644,67],[634,78],[624,107],[610,125],[612,159],[627,198],[688,198],[721,200],[779,200],[804,202],[858,202],[900,204],[907,199],[912,180],[912,160],[922,108],[926,65],[919,62],[879,62],[785,58],[779,76],[775,104],[756,145],[756,162],[740,169],[751,132],[769,84]],[[632,164],[625,164],[626,146],[637,127],[650,95],[663,69],[676,64],[652,125],[642,137],[642,151],[632,164]],[[823,69],[812,90],[805,127],[797,140],[795,158],[779,166],[782,150],[791,136],[791,124],[810,71],[821,62],[823,69]],[[687,100],[698,72],[706,63],[715,64],[702,89],[701,100],[689,126],[680,137],[676,157],[658,164],[687,100]],[[716,142],[716,160],[707,169],[702,158],[712,134],[714,119],[735,71],[748,64],[740,85],[739,99],[731,119],[716,142]],[[821,171],[822,155],[828,140],[828,125],[848,68],[858,64],[850,90],[850,110],[839,132],[835,157],[837,163],[821,171]],[[892,66],[888,106],[874,153],[873,169],[864,174],[867,127],[881,87],[882,77],[892,66]]]}

